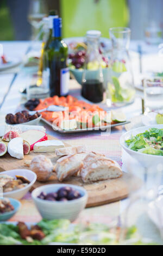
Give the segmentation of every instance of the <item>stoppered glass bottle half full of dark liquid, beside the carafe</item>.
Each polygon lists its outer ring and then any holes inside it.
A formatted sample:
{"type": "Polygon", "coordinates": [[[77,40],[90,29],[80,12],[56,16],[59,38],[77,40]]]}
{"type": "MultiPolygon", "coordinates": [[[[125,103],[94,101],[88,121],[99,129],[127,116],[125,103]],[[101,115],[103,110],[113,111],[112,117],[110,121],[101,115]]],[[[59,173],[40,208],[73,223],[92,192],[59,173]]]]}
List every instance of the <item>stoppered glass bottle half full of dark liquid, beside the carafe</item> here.
{"type": "Polygon", "coordinates": [[[87,52],[82,78],[82,96],[92,102],[103,101],[102,60],[99,53],[100,31],[87,31],[87,52]]]}

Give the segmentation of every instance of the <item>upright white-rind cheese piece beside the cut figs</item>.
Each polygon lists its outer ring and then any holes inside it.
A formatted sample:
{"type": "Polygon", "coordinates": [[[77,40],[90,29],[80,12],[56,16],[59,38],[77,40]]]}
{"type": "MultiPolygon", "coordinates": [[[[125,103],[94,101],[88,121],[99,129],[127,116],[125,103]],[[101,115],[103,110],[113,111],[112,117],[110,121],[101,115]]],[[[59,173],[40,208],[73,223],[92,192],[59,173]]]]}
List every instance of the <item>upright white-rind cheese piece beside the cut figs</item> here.
{"type": "Polygon", "coordinates": [[[21,137],[17,137],[11,139],[8,144],[8,153],[12,157],[16,157],[17,159],[23,159],[23,139],[21,137]]]}

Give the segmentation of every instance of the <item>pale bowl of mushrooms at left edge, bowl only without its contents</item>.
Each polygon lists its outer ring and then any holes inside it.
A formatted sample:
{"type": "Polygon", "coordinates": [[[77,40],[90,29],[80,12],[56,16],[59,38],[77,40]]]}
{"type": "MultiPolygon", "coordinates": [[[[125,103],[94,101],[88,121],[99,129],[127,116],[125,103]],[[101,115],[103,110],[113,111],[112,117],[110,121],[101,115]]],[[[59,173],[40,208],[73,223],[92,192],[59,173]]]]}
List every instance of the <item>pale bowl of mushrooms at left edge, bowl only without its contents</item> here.
{"type": "Polygon", "coordinates": [[[9,176],[12,176],[15,178],[15,175],[21,175],[26,177],[30,183],[23,188],[20,188],[18,190],[10,191],[10,192],[5,192],[3,193],[4,197],[10,197],[14,199],[21,199],[27,192],[30,190],[34,182],[36,181],[36,174],[32,172],[32,170],[27,170],[27,169],[14,169],[14,170],[6,170],[5,172],[1,172],[0,174],[7,174],[9,176]]]}

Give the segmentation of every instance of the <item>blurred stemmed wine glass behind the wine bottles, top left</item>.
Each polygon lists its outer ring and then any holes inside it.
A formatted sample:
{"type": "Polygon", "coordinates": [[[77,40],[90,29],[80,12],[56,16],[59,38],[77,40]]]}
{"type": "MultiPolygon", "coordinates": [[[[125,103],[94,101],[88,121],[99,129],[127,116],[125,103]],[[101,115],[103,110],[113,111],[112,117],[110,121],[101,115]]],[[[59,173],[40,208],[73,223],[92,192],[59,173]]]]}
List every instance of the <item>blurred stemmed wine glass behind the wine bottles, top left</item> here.
{"type": "Polygon", "coordinates": [[[33,28],[33,39],[36,40],[42,25],[43,17],[47,16],[47,4],[45,0],[30,0],[28,21],[33,28]]]}

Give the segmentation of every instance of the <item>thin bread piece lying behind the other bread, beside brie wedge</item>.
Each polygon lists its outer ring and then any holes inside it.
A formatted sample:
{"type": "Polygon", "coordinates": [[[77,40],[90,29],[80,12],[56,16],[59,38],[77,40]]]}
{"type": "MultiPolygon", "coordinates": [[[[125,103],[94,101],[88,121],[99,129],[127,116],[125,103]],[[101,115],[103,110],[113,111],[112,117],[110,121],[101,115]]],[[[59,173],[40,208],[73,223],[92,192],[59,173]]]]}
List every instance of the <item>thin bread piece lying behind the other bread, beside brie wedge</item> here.
{"type": "Polygon", "coordinates": [[[85,146],[55,149],[55,154],[57,156],[74,155],[74,154],[78,154],[78,153],[86,153],[85,146]]]}

